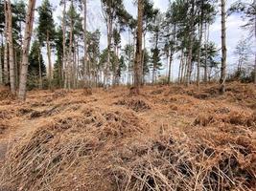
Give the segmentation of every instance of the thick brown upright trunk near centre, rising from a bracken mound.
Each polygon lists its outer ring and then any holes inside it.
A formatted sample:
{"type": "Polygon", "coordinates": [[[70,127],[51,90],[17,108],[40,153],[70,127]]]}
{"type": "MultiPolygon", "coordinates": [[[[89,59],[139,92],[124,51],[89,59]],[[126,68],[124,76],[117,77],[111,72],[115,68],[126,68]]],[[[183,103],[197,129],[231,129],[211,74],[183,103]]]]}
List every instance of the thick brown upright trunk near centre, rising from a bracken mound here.
{"type": "Polygon", "coordinates": [[[142,58],[142,26],[143,26],[143,0],[138,0],[138,29],[136,38],[136,53],[135,53],[135,63],[134,63],[134,88],[135,93],[139,94],[140,88],[140,67],[142,58]]]}

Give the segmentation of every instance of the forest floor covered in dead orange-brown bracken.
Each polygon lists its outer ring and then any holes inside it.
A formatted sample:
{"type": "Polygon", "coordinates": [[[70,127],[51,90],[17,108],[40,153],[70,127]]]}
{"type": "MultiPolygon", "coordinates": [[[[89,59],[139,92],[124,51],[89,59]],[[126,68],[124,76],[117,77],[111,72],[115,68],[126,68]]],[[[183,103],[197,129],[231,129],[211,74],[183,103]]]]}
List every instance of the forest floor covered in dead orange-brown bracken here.
{"type": "Polygon", "coordinates": [[[256,86],[0,88],[0,190],[253,190],[256,86]]]}

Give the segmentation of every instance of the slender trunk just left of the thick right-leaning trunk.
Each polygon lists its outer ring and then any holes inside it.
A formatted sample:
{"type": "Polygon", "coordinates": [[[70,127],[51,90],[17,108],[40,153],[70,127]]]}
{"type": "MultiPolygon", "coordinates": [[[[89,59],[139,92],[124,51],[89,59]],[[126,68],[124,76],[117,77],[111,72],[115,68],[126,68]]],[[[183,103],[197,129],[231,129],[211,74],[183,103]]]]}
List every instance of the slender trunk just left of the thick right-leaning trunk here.
{"type": "Polygon", "coordinates": [[[10,85],[11,85],[11,92],[12,95],[15,95],[15,70],[14,70],[14,55],[13,55],[13,43],[12,43],[12,6],[11,6],[11,0],[8,0],[8,41],[9,41],[9,65],[10,65],[10,85]]]}

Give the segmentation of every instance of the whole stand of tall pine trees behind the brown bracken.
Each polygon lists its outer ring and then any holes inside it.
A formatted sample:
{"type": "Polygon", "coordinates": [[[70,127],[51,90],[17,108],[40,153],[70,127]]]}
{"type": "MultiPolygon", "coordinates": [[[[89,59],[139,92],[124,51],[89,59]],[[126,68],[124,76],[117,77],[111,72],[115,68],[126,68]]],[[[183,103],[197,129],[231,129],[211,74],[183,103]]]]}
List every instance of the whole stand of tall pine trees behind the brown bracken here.
{"type": "Polygon", "coordinates": [[[26,90],[35,88],[107,89],[126,83],[139,93],[145,83],[199,86],[220,79],[223,93],[230,77],[256,83],[256,53],[255,62],[248,64],[253,53],[246,39],[235,51],[235,73],[226,72],[230,65],[226,63],[226,17],[240,13],[247,21],[244,30],[256,38],[255,0],[237,1],[228,10],[225,0],[175,0],[166,12],[155,9],[151,0],[138,0],[136,19],[128,13],[123,0],[101,0],[107,41],[102,51],[100,30],[87,31],[86,0],[61,0],[59,26],[51,2],[43,0],[36,9],[35,29],[34,4],[33,0],[28,5],[22,0],[0,0],[0,84],[10,85],[12,94],[18,92],[20,97],[25,98],[26,90]],[[220,4],[221,50],[209,40],[220,4]],[[128,33],[125,46],[123,32],[128,33]],[[178,74],[172,70],[176,59],[178,74]]]}

